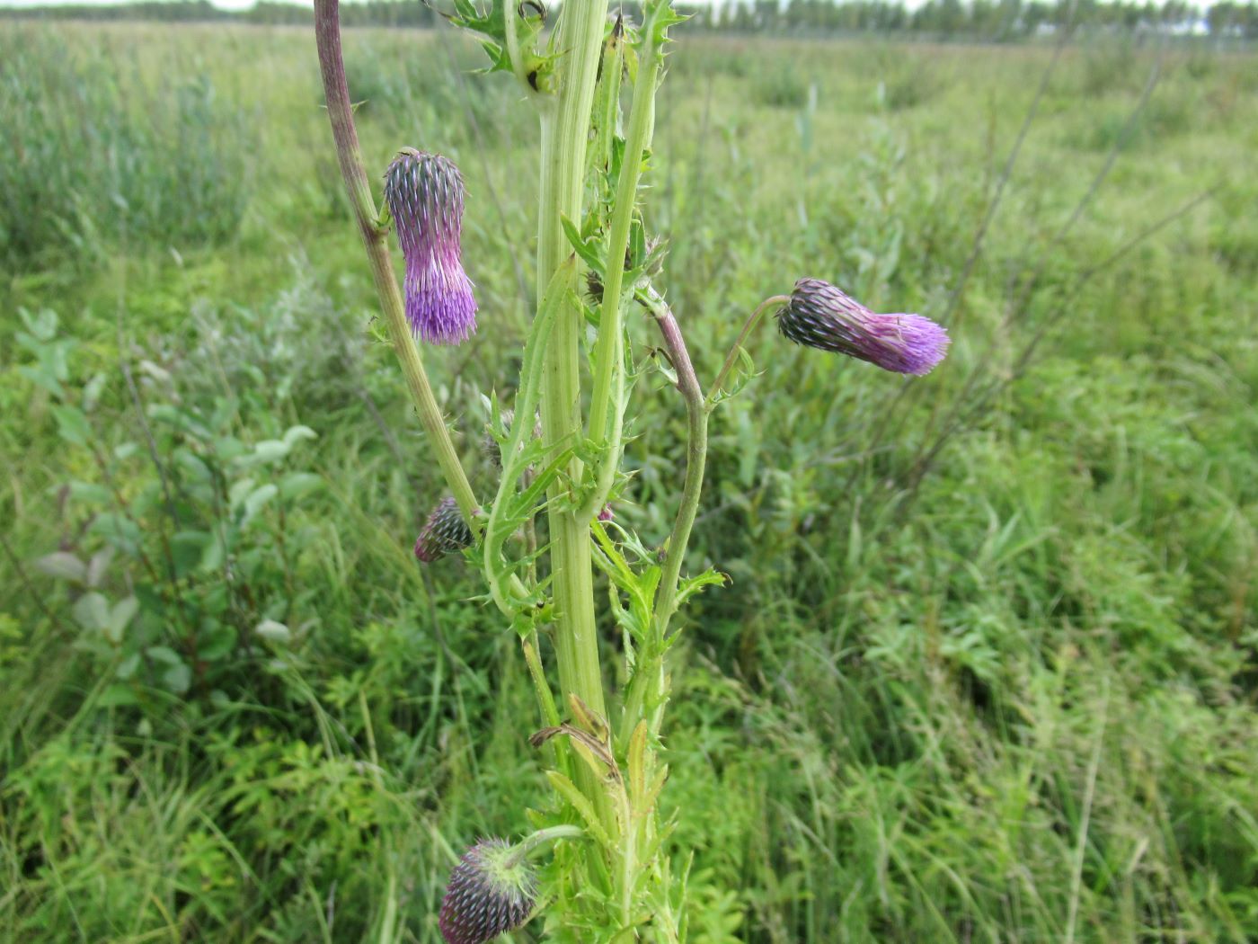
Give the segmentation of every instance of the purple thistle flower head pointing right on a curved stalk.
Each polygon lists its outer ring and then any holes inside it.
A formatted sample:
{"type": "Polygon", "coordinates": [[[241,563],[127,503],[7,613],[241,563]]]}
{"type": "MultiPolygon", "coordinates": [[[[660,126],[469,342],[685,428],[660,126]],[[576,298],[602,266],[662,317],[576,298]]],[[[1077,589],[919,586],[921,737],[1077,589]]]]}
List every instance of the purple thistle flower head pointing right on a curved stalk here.
{"type": "Polygon", "coordinates": [[[930,374],[944,360],[947,332],[921,315],[879,315],[829,282],[801,278],[777,312],[795,344],[837,351],[897,374],[930,374]]]}

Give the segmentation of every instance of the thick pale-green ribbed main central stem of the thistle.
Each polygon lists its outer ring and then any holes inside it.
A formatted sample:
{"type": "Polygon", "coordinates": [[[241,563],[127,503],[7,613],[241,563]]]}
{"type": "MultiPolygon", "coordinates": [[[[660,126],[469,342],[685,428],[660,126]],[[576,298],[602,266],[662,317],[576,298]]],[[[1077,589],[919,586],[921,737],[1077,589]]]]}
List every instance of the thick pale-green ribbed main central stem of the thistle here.
{"type": "MultiPolygon", "coordinates": [[[[564,73],[555,107],[542,108],[541,214],[537,233],[537,274],[543,282],[569,254],[562,219],[581,219],[585,184],[585,149],[594,104],[594,84],[603,47],[608,0],[566,4],[559,26],[564,73]]],[[[581,434],[580,332],[584,320],[565,297],[543,361],[542,438],[551,456],[581,434]]],[[[580,461],[572,458],[567,476],[581,478],[580,461]]],[[[551,486],[547,505],[551,536],[551,574],[555,589],[555,649],[560,687],[579,696],[591,711],[606,717],[599,641],[594,621],[594,575],[589,522],[562,501],[569,486],[551,486]]],[[[584,767],[584,765],[582,765],[584,767]]],[[[605,794],[593,777],[579,773],[580,787],[610,817],[605,794]]]]}

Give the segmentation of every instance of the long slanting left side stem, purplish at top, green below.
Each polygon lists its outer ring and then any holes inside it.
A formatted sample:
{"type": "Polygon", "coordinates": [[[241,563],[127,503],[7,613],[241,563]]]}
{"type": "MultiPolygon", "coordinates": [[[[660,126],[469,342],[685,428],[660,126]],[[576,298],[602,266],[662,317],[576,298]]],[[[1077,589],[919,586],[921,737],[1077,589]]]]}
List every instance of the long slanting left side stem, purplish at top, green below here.
{"type": "Polygon", "coordinates": [[[350,193],[353,216],[362,234],[362,244],[367,250],[371,266],[371,278],[380,297],[380,308],[389,325],[389,339],[394,352],[406,378],[406,386],[423,424],[437,453],[437,464],[442,469],[445,483],[459,505],[459,511],[474,532],[479,532],[478,503],[472,485],[468,482],[463,464],[459,462],[450,430],[445,427],[445,417],[433,396],[433,388],[424,373],[424,362],[406,323],[401,292],[394,277],[392,262],[389,259],[389,230],[376,220],[375,204],[371,199],[371,186],[362,165],[362,152],[359,149],[359,133],[353,127],[353,110],[350,104],[350,88],[345,79],[345,62],[341,58],[341,23],[338,0],[316,0],[314,38],[318,44],[320,70],[323,76],[323,94],[327,99],[327,116],[332,122],[332,137],[336,141],[336,156],[341,164],[341,176],[350,193]]]}

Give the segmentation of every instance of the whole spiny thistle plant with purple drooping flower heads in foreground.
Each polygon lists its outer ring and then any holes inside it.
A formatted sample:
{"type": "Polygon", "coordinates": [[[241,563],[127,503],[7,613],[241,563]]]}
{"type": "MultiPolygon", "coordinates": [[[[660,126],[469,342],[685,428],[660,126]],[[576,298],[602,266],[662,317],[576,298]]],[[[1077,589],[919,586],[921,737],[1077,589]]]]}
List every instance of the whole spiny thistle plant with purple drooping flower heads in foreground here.
{"type": "Polygon", "coordinates": [[[457,344],[474,330],[476,301],[459,248],[463,213],[477,211],[474,196],[465,195],[447,157],[406,146],[384,170],[384,208],[375,209],[341,59],[337,0],[314,4],[341,172],[394,350],[450,491],[420,532],[415,555],[429,561],[462,551],[483,571],[487,600],[518,636],[533,682],[538,721],[531,743],[554,794],[531,814],[535,831],[518,843],[482,840],[468,848],[439,926],[450,944],[489,940],[532,918],[552,940],[678,941],[686,936],[686,882],[677,863],[684,860],[674,856],[672,823],[662,814],[662,730],[668,653],[682,632],[674,618],[696,593],[723,582],[715,570],[682,574],[708,419],[752,379],[746,345],[772,308],[788,339],[902,374],[933,368],[947,336],[921,316],[878,315],[827,282],[800,279],[790,295],[771,296],[751,313],[704,390],[657,288],[665,245],[649,232],[640,203],[669,31],[683,18],[671,0],[647,0],[637,25],[609,19],[608,0],[569,0],[543,31],[538,4],[453,3],[450,21],[477,34],[489,72],[518,83],[522,107],[536,111],[541,127],[537,305],[515,402],[489,399],[497,481],[483,483],[482,496],[464,472],[415,340],[457,344]],[[405,297],[392,274],[390,230],[406,264],[405,297]],[[630,395],[643,371],[634,345],[648,331],[667,352],[687,417],[678,506],[658,548],[613,514],[630,487],[620,467],[630,395]],[[535,423],[520,422],[538,414],[540,435],[535,423]],[[601,622],[595,573],[611,590],[599,594],[608,600],[601,622]],[[606,683],[613,673],[604,672],[600,631],[624,639],[615,677],[626,681],[616,691],[606,683]],[[541,848],[554,861],[538,879],[525,856],[541,848]]]}

